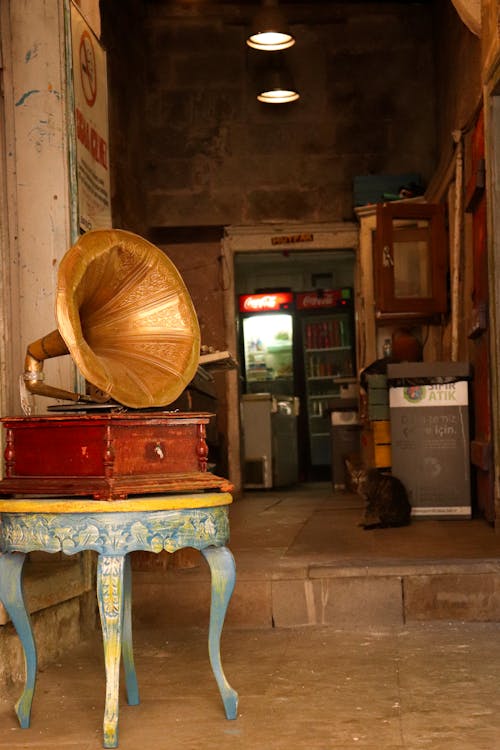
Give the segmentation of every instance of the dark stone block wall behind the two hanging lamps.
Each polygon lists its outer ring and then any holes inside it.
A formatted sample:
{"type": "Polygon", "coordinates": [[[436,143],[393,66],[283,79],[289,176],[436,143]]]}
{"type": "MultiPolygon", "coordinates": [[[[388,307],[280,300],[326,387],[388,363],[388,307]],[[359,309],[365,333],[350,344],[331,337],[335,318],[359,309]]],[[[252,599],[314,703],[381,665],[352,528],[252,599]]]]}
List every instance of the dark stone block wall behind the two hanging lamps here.
{"type": "MultiPolygon", "coordinates": [[[[150,4],[138,59],[143,19],[128,16],[124,28],[118,5],[102,8],[109,59],[123,62],[111,63],[111,132],[135,132],[130,152],[140,142],[145,191],[133,213],[143,210],[149,226],[350,219],[355,175],[432,174],[429,5],[282,4],[297,38],[283,54],[301,92],[284,106],[256,100],[268,58],[245,44],[253,6],[150,4]]],[[[119,206],[135,186],[125,173],[116,179],[119,206]]]]}

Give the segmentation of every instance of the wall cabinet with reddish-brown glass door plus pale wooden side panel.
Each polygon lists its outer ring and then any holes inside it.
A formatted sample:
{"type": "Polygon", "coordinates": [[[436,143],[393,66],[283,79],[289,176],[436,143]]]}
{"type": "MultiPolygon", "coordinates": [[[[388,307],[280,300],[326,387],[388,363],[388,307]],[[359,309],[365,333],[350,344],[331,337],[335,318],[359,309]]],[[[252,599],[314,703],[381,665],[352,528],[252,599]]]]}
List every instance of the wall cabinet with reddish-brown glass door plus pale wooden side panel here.
{"type": "Polygon", "coordinates": [[[358,370],[382,356],[401,325],[434,322],[448,308],[445,207],[422,199],[356,209],[358,370]]]}

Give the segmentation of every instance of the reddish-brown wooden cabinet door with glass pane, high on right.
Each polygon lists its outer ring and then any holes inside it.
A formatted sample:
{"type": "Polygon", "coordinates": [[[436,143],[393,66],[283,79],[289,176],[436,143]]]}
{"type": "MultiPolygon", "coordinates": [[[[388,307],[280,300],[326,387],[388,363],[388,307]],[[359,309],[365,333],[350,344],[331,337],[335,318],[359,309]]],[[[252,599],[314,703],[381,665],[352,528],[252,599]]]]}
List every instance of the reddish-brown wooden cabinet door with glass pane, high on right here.
{"type": "Polygon", "coordinates": [[[379,204],[374,247],[377,316],[446,312],[447,256],[442,205],[379,204]]]}

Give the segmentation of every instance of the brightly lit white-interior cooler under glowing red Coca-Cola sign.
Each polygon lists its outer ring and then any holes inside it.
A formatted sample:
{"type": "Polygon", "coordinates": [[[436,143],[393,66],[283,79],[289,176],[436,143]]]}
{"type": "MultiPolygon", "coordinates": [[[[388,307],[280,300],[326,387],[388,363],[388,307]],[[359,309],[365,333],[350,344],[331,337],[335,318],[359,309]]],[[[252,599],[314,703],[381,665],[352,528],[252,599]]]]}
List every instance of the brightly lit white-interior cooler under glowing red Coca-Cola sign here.
{"type": "Polygon", "coordinates": [[[246,392],[293,396],[293,294],[245,294],[239,310],[246,392]]]}

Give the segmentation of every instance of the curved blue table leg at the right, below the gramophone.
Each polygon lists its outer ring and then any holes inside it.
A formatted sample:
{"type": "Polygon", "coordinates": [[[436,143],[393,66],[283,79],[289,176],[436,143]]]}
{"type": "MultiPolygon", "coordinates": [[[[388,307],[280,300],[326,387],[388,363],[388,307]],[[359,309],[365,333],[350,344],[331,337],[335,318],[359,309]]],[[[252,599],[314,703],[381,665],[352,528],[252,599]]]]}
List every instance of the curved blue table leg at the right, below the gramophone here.
{"type": "Polygon", "coordinates": [[[208,652],[210,664],[221,694],[226,718],[236,719],[238,693],[228,683],[220,658],[220,639],[227,607],[236,581],[234,557],[227,547],[207,547],[202,550],[210,566],[212,576],[212,599],[208,630],[208,652]]]}

